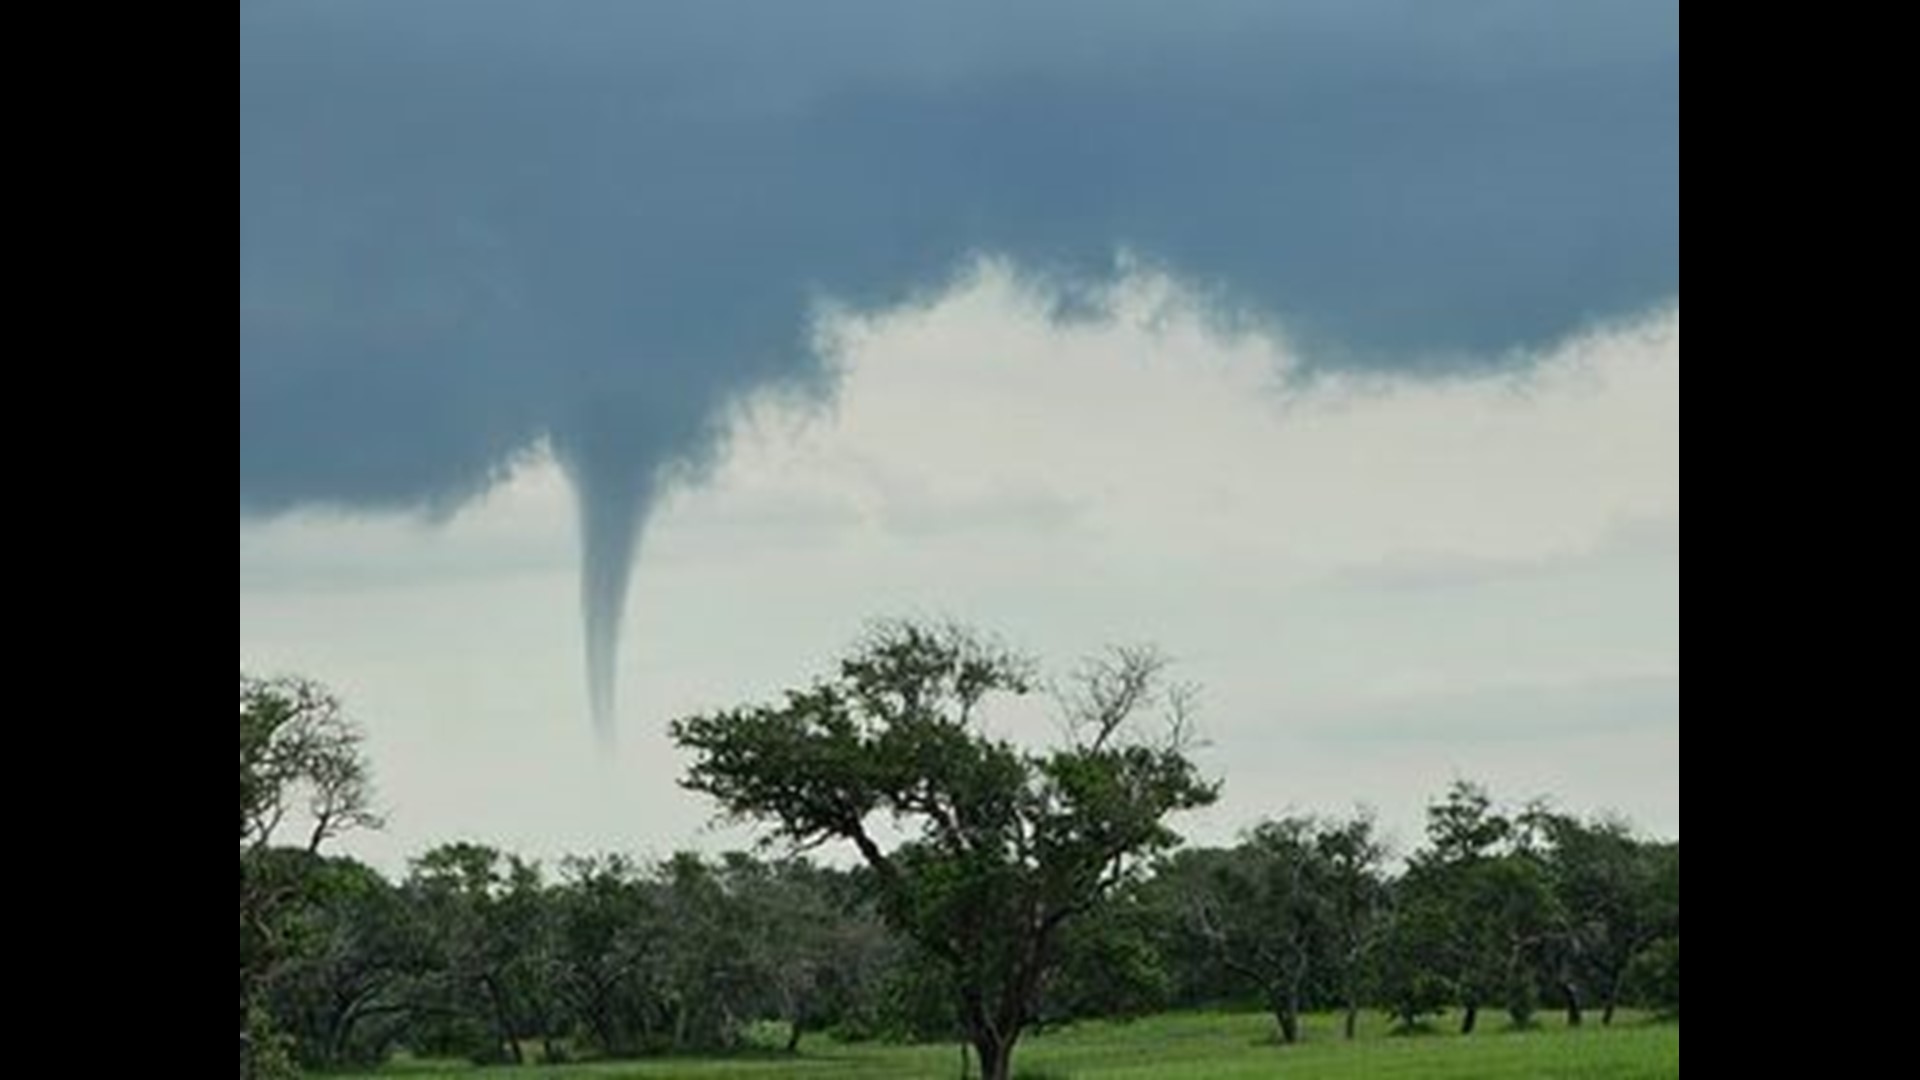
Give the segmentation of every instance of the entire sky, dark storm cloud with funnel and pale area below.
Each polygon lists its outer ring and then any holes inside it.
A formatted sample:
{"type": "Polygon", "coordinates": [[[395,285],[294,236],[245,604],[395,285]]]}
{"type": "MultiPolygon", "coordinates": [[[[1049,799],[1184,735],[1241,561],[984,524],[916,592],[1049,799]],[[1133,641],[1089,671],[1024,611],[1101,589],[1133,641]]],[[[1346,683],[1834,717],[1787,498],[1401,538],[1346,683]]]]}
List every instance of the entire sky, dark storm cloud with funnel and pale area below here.
{"type": "Polygon", "coordinates": [[[1678,834],[1670,6],[553,12],[242,6],[240,659],[348,849],[741,844],[666,721],[887,615],[1160,644],[1200,840],[1678,834]]]}

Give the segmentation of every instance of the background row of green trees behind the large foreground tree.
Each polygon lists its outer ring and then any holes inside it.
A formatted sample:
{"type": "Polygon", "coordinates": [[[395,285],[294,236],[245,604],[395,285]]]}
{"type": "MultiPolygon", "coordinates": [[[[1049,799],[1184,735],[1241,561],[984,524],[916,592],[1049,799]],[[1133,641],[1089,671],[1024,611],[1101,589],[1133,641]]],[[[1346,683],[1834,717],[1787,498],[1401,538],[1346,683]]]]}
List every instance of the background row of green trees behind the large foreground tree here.
{"type": "MultiPolygon", "coordinates": [[[[242,753],[246,742],[242,740],[242,753]]],[[[257,807],[255,807],[257,809],[257,807]]],[[[1392,859],[1367,817],[1292,817],[1142,867],[1069,924],[1037,1022],[1258,999],[1415,1028],[1542,1009],[1680,1007],[1680,847],[1455,784],[1392,859]]],[[[255,821],[259,815],[255,815],[255,821]]],[[[275,822],[278,819],[273,819],[275,822]]],[[[255,1055],[369,1065],[396,1047],[564,1061],[739,1047],[780,1024],[960,1038],[945,982],[866,869],[806,859],[568,857],[445,844],[394,882],[305,844],[246,847],[242,1011],[255,1055]],[[252,909],[250,909],[252,901],[252,909]],[[250,922],[252,917],[252,922],[250,922]]]]}

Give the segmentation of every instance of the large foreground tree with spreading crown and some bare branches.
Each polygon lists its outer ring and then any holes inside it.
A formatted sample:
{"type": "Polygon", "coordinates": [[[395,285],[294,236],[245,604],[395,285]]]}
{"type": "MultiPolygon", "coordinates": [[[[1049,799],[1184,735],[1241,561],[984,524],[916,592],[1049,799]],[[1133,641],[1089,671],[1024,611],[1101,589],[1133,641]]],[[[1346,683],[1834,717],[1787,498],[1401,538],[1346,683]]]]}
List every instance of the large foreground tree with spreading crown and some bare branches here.
{"type": "Polygon", "coordinates": [[[1190,696],[1162,669],[1146,650],[1091,663],[1062,694],[1068,746],[1035,753],[979,728],[991,698],[1035,688],[1031,661],[958,626],[889,623],[831,678],[672,734],[695,753],[684,786],[728,815],[858,849],[881,915],[947,976],[981,1078],[1006,1080],[1066,922],[1179,842],[1169,813],[1217,796],[1185,753],[1190,696]],[[1154,707],[1165,730],[1148,742],[1133,724],[1154,707]],[[891,849],[881,815],[906,832],[891,849]]]}

